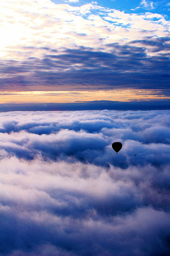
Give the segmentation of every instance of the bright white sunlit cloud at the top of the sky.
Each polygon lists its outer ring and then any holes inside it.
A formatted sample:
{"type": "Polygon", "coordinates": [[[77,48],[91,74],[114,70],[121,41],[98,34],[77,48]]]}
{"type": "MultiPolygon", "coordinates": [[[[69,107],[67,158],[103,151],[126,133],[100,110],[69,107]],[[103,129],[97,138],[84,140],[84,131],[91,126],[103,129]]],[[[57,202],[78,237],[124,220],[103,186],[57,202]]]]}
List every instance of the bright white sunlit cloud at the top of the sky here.
{"type": "MultiPolygon", "coordinates": [[[[142,1],[144,7],[153,3],[142,1]]],[[[1,1],[2,39],[0,47],[4,58],[43,58],[37,49],[48,47],[61,51],[63,48],[91,47],[107,51],[106,44],[126,43],[144,36],[167,36],[168,22],[160,15],[158,22],[148,14],[127,14],[105,9],[95,4],[72,7],[56,5],[49,1],[1,1]],[[99,15],[93,13],[98,10],[99,15]],[[113,23],[111,23],[113,22],[113,23]],[[115,26],[116,25],[116,26],[115,26]],[[117,26],[118,25],[118,26],[117,26]],[[78,37],[78,34],[83,37],[78,37]],[[135,33],[134,33],[135,32],[135,33]],[[23,47],[33,47],[36,51],[23,47]],[[20,54],[22,53],[22,54],[20,54]]],[[[157,15],[157,14],[155,14],[157,15]]]]}

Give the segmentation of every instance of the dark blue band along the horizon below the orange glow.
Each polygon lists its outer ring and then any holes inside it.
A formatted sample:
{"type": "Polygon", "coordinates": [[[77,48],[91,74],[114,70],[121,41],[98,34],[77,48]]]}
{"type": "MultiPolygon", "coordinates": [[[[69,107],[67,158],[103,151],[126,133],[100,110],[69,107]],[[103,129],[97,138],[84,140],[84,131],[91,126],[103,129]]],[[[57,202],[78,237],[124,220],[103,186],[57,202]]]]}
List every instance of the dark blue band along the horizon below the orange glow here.
{"type": "Polygon", "coordinates": [[[70,103],[1,103],[0,112],[11,111],[83,111],[83,110],[170,110],[170,99],[132,101],[77,101],[70,103]]]}

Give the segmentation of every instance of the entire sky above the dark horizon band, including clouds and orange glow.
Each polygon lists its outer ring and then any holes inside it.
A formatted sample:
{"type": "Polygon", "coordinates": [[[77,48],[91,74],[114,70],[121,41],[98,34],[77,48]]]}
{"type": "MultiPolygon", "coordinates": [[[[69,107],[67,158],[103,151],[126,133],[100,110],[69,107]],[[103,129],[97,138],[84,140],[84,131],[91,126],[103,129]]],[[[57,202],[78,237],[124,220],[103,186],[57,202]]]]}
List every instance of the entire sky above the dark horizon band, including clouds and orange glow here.
{"type": "Polygon", "coordinates": [[[1,111],[103,100],[159,100],[170,108],[169,1],[0,5],[1,111]]]}

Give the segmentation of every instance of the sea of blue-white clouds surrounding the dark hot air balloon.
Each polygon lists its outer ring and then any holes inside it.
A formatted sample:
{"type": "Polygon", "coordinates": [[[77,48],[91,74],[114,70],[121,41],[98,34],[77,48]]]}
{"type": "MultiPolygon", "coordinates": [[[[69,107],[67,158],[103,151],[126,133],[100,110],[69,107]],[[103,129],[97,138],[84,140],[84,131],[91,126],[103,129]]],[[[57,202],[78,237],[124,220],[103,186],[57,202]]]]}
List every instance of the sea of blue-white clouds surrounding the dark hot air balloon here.
{"type": "Polygon", "coordinates": [[[168,256],[169,114],[1,113],[0,255],[168,256]]]}

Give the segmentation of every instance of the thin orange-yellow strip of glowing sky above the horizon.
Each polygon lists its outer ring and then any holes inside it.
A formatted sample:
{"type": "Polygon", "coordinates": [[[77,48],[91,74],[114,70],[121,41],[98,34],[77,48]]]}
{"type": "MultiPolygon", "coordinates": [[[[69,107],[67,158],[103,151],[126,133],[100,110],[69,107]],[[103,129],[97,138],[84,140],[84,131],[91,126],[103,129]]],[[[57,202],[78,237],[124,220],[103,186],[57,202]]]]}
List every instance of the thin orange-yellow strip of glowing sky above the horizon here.
{"type": "Polygon", "coordinates": [[[76,101],[132,101],[169,99],[158,90],[22,91],[0,92],[0,103],[70,103],[76,101]]]}

